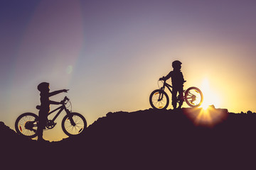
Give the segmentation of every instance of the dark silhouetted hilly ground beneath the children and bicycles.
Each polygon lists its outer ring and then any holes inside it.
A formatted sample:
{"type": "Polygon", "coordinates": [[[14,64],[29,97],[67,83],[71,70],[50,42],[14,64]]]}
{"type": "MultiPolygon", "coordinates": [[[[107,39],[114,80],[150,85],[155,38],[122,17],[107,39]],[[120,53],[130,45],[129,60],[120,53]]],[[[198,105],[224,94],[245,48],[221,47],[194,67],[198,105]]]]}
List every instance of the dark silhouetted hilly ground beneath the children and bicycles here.
{"type": "Polygon", "coordinates": [[[107,113],[85,134],[60,142],[29,140],[0,123],[1,164],[22,169],[254,169],[256,114],[201,111],[107,113]]]}

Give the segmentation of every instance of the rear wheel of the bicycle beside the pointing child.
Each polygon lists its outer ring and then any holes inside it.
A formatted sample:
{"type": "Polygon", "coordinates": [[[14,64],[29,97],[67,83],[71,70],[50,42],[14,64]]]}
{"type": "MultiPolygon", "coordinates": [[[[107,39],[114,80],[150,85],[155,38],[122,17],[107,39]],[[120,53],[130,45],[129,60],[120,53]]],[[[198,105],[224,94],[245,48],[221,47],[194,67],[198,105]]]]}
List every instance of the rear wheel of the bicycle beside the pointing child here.
{"type": "Polygon", "coordinates": [[[36,137],[38,129],[38,115],[34,113],[23,113],[15,122],[15,130],[18,134],[26,137],[36,137]]]}

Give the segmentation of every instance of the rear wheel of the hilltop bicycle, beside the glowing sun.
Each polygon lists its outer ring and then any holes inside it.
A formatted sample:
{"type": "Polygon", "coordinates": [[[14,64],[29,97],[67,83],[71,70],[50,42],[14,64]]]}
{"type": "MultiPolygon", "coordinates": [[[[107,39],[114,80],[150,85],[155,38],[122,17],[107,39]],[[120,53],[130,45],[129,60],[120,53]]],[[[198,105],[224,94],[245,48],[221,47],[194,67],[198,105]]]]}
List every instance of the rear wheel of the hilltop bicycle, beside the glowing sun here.
{"type": "Polygon", "coordinates": [[[185,101],[188,106],[196,108],[203,103],[203,93],[197,87],[190,87],[185,92],[185,101]]]}

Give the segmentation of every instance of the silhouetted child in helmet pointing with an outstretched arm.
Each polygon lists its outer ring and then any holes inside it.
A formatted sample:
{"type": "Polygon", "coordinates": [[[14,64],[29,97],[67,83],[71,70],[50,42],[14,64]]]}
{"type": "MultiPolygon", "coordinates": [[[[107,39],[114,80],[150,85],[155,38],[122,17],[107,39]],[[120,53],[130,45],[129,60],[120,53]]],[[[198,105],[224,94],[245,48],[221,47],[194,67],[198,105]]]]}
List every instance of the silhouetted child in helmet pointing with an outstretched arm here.
{"type": "Polygon", "coordinates": [[[38,141],[45,141],[43,140],[43,129],[46,127],[46,123],[48,120],[48,113],[50,111],[50,104],[61,104],[60,102],[57,101],[50,101],[49,97],[54,96],[56,94],[60,94],[63,92],[68,92],[68,90],[63,89],[59,91],[53,91],[50,92],[50,86],[49,83],[43,82],[38,85],[38,91],[40,91],[40,101],[41,101],[41,106],[40,106],[40,111],[39,111],[39,120],[38,120],[38,141]]]}

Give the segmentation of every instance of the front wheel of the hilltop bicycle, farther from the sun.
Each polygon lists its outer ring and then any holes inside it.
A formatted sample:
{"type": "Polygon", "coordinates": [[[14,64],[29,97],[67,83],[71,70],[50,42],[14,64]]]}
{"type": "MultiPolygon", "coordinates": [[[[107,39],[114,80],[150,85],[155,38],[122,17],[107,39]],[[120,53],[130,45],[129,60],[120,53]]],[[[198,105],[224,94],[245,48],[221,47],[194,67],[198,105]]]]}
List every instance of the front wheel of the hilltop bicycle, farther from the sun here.
{"type": "Polygon", "coordinates": [[[149,103],[152,108],[166,109],[169,105],[169,97],[165,91],[157,89],[150,94],[149,103]]]}

